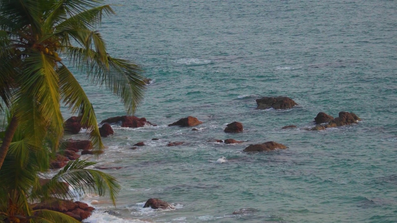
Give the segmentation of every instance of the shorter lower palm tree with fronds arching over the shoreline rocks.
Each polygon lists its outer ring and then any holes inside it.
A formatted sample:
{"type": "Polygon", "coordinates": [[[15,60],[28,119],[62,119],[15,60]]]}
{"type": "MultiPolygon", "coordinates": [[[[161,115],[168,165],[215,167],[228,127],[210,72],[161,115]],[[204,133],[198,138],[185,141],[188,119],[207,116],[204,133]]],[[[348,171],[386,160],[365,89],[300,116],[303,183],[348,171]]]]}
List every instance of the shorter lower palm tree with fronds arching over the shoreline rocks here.
{"type": "Polygon", "coordinates": [[[108,195],[115,204],[120,186],[114,177],[86,169],[94,162],[69,161],[52,179],[41,185],[39,176],[48,170],[50,149],[45,148],[48,145],[45,142],[42,144],[45,149],[38,148],[35,142],[26,137],[28,131],[17,127],[3,168],[0,169],[0,222],[79,222],[64,213],[32,208],[31,204],[37,201],[73,199],[75,194],[64,190],[63,182],[75,188],[79,195],[87,191],[100,196],[108,195]]]}

